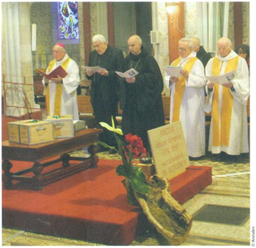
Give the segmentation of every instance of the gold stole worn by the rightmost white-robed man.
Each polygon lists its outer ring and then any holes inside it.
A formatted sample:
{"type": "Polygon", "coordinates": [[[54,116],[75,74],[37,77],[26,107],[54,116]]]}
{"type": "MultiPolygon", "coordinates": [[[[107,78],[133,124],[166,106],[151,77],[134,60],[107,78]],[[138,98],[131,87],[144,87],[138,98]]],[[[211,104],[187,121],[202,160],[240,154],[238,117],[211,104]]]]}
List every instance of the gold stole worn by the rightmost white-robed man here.
{"type": "MultiPolygon", "coordinates": [[[[225,73],[237,69],[239,56],[227,61],[225,73]]],[[[212,76],[220,75],[221,61],[217,58],[212,62],[212,76]]],[[[215,84],[212,98],[212,147],[227,146],[230,143],[230,125],[233,107],[233,96],[230,89],[222,87],[222,110],[219,106],[220,85],[215,84]]]]}

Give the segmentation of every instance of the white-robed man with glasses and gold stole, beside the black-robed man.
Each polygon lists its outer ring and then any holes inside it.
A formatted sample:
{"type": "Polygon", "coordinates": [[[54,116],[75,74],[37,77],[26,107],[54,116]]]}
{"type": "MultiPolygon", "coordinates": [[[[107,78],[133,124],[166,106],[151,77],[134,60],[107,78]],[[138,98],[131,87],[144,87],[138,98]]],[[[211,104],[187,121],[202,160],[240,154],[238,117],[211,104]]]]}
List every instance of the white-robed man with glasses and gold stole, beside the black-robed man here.
{"type": "Polygon", "coordinates": [[[205,69],[189,39],[179,40],[179,58],[172,66],[182,66],[182,76],[165,74],[170,90],[170,123],[181,121],[189,157],[205,155],[205,69]]]}

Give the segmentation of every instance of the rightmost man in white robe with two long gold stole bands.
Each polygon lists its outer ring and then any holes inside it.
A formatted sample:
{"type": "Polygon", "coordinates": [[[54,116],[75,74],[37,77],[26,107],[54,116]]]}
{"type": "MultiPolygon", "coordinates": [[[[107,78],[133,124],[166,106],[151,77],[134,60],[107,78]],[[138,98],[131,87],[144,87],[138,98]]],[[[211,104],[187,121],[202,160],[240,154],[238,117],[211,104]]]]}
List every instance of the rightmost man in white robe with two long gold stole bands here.
{"type": "Polygon", "coordinates": [[[209,151],[239,155],[249,152],[247,134],[247,99],[250,94],[248,66],[232,50],[228,38],[217,41],[217,55],[206,66],[206,76],[220,76],[230,71],[237,76],[225,84],[207,81],[205,111],[212,111],[209,151]]]}

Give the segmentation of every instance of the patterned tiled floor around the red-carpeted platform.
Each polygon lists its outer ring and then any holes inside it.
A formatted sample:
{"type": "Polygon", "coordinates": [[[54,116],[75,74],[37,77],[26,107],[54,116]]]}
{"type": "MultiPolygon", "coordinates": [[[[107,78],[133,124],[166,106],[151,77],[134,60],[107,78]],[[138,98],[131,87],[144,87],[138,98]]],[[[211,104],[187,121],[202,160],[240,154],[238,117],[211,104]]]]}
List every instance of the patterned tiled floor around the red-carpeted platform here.
{"type": "MultiPolygon", "coordinates": [[[[78,152],[80,153],[80,152],[78,152]]],[[[117,154],[99,153],[102,159],[119,159],[117,154]]],[[[250,159],[248,156],[237,157],[235,162],[217,161],[216,157],[207,156],[205,159],[191,161],[193,165],[212,167],[213,182],[199,194],[189,199],[183,206],[190,214],[195,214],[205,204],[218,206],[250,208],[250,159]],[[230,175],[231,174],[231,175],[230,175]],[[225,177],[223,177],[223,175],[225,177]]],[[[238,213],[239,214],[239,213],[238,213]]],[[[250,218],[240,226],[219,224],[213,222],[193,221],[192,229],[182,246],[244,246],[250,245],[250,218]]],[[[77,246],[102,245],[74,239],[51,237],[15,229],[2,229],[3,246],[77,246]]],[[[137,237],[132,246],[157,246],[169,243],[154,229],[137,237]]]]}

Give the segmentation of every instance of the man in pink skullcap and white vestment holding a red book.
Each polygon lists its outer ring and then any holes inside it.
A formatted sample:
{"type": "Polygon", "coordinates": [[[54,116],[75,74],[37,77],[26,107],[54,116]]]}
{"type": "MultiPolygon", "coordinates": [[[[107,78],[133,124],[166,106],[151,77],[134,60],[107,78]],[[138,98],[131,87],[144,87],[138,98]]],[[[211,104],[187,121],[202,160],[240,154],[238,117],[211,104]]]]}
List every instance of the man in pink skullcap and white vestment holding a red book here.
{"type": "Polygon", "coordinates": [[[50,61],[46,74],[61,65],[67,71],[67,76],[61,78],[58,75],[58,77],[50,80],[44,77],[47,115],[71,114],[74,120],[79,120],[77,105],[77,87],[80,81],[79,66],[69,58],[64,44],[56,44],[53,48],[53,54],[54,60],[50,61]]]}

